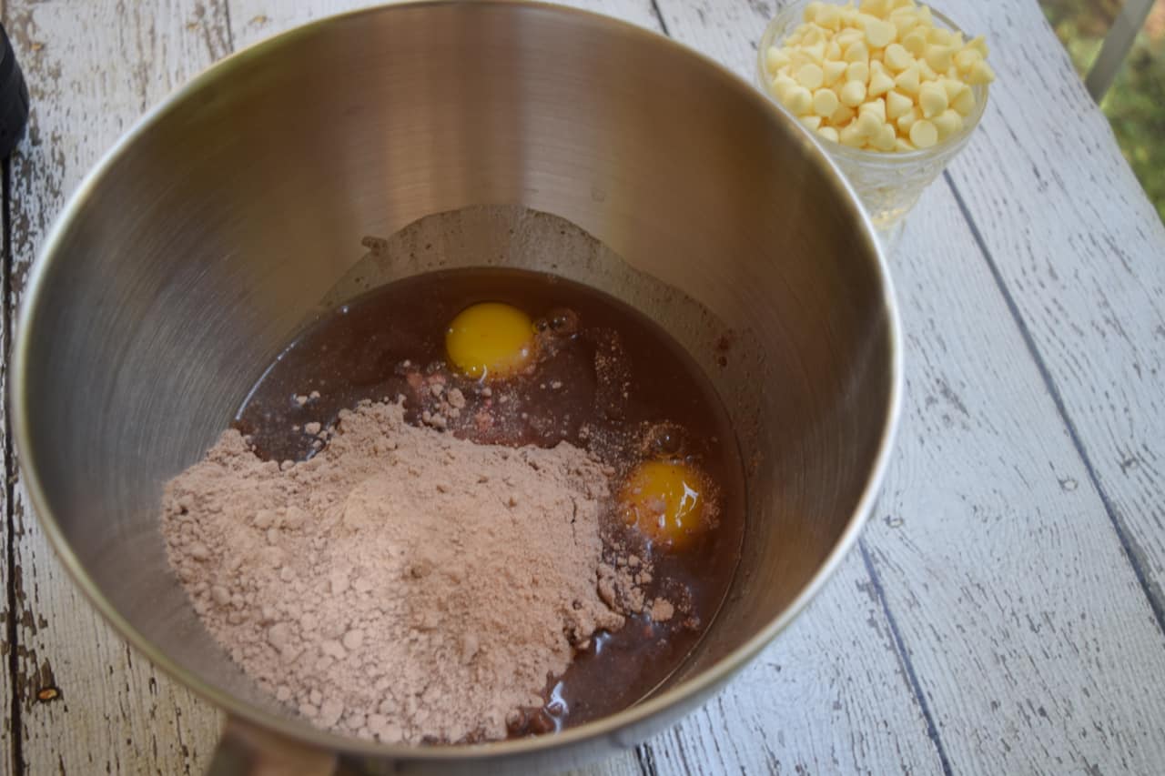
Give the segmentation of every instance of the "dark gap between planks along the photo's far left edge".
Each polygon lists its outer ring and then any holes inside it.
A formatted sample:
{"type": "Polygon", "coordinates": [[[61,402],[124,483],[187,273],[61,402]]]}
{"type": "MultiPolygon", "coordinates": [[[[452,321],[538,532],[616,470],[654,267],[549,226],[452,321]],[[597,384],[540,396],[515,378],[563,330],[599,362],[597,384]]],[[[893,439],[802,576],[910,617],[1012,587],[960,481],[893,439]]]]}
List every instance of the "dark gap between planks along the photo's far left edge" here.
{"type": "MultiPolygon", "coordinates": [[[[2,190],[3,190],[3,277],[0,280],[0,294],[3,295],[3,301],[0,302],[0,310],[2,310],[5,326],[3,326],[3,372],[5,380],[3,385],[7,387],[8,382],[8,354],[12,352],[12,298],[9,294],[12,284],[12,211],[9,203],[10,189],[12,189],[12,162],[10,160],[3,160],[3,167],[0,169],[0,176],[2,176],[2,190]]],[[[0,398],[2,401],[2,398],[0,398]]],[[[3,418],[3,449],[5,449],[5,465],[3,465],[3,488],[5,488],[5,525],[7,531],[5,534],[6,546],[5,546],[5,564],[8,569],[8,588],[6,592],[6,606],[8,607],[8,613],[6,618],[6,632],[5,639],[8,642],[8,661],[3,666],[3,670],[8,671],[9,689],[12,697],[6,700],[9,704],[8,708],[8,722],[12,729],[8,731],[8,740],[12,741],[12,752],[9,756],[12,757],[12,773],[19,774],[23,771],[23,753],[21,752],[21,707],[20,697],[16,693],[16,678],[19,671],[19,661],[16,656],[16,521],[13,516],[12,500],[13,500],[13,450],[12,450],[12,428],[10,421],[5,415],[3,418]]]]}

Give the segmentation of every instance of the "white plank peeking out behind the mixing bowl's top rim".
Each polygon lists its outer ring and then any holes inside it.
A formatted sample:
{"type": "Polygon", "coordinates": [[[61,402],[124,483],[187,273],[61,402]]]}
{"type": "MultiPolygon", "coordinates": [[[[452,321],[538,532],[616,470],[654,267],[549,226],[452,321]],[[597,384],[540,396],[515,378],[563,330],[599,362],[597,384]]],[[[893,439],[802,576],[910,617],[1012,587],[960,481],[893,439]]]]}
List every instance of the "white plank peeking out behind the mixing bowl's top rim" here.
{"type": "MultiPolygon", "coordinates": [[[[230,0],[234,44],[242,48],[313,19],[379,5],[383,3],[374,0],[230,0]]],[[[651,0],[564,0],[560,5],[659,29],[651,0]]]]}

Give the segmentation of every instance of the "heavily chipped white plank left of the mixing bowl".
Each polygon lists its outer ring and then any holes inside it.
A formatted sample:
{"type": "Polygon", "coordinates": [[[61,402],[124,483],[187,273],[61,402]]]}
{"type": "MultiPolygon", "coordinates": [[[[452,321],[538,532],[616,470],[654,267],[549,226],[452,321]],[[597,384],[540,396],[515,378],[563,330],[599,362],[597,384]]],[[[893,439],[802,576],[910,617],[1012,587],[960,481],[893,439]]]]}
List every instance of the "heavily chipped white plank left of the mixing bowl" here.
{"type": "MultiPolygon", "coordinates": [[[[5,19],[33,100],[13,164],[14,296],[64,196],[147,106],[226,52],[202,2],[9,0],[5,19]]],[[[30,773],[199,773],[218,714],[125,646],[84,601],[17,485],[17,683],[30,773]],[[56,687],[51,700],[37,692],[56,687]]]]}

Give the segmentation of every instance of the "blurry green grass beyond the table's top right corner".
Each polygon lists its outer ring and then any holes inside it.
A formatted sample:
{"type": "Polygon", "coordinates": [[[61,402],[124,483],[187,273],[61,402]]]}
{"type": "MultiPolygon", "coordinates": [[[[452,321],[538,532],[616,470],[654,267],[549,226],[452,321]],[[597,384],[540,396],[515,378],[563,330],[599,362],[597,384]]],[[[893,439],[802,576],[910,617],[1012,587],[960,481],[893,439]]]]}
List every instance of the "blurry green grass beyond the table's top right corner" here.
{"type": "MultiPolygon", "coordinates": [[[[1087,72],[1120,0],[1042,0],[1042,5],[1076,70],[1087,72]]],[[[1157,0],[1101,110],[1165,221],[1165,0],[1157,0]]]]}

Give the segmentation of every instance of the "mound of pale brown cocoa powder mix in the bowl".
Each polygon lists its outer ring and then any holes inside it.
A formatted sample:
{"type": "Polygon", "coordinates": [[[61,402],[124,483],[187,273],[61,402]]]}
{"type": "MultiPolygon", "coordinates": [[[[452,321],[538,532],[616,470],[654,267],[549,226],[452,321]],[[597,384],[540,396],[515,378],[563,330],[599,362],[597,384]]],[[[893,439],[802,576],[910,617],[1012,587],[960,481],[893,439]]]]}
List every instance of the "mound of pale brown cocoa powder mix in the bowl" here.
{"type": "Polygon", "coordinates": [[[503,738],[620,612],[672,615],[636,597],[644,569],[601,562],[609,470],[582,450],[474,444],[407,424],[400,402],[310,432],[313,458],[276,464],[227,431],[167,485],[162,529],[211,634],[316,725],[503,738]]]}

